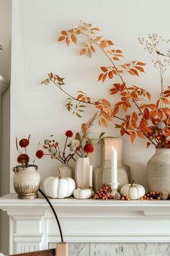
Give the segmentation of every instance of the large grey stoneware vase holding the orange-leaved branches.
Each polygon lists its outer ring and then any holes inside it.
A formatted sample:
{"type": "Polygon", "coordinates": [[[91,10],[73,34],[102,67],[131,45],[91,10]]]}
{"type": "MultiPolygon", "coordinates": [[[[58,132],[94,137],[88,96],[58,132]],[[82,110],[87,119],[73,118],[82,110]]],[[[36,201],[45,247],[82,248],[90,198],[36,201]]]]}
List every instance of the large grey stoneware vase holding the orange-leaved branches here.
{"type": "Polygon", "coordinates": [[[147,175],[151,191],[167,191],[170,195],[170,148],[156,148],[148,161],[147,175]]]}

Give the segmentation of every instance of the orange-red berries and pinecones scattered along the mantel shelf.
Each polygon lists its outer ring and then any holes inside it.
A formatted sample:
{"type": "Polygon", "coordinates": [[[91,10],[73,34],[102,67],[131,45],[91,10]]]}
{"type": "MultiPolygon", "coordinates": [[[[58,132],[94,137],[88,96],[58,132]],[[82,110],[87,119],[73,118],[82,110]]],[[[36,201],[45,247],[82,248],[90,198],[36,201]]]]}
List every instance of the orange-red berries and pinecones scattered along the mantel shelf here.
{"type": "MultiPolygon", "coordinates": [[[[94,193],[94,200],[122,200],[122,201],[130,201],[130,197],[120,195],[119,192],[116,192],[114,196],[112,196],[112,189],[109,184],[102,184],[102,187],[94,193]]],[[[169,193],[166,191],[148,192],[143,197],[140,197],[140,200],[167,200],[169,199],[169,193]]]]}

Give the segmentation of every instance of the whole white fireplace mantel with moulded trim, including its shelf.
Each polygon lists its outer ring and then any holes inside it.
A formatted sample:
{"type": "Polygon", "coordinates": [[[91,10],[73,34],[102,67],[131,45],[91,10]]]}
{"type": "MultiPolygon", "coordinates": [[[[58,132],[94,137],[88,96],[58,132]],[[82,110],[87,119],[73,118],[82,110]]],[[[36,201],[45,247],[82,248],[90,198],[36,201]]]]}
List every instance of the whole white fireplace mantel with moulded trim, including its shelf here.
{"type": "MultiPolygon", "coordinates": [[[[170,201],[51,200],[67,242],[169,242],[170,201]]],[[[39,197],[0,198],[10,217],[10,253],[46,249],[60,241],[48,203],[39,197]]]]}

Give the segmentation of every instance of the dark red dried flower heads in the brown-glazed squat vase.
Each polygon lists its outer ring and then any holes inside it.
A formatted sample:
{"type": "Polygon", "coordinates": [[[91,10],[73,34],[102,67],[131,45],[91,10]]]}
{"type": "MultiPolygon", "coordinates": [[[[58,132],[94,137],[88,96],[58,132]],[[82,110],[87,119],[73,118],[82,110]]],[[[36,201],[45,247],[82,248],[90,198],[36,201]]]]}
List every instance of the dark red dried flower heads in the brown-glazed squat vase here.
{"type": "MultiPolygon", "coordinates": [[[[27,166],[30,162],[30,157],[29,155],[27,154],[27,147],[28,145],[30,145],[30,135],[27,139],[22,139],[22,140],[19,140],[19,145],[18,145],[18,140],[16,138],[16,148],[17,148],[17,151],[19,153],[18,157],[17,157],[17,162],[20,163],[22,166],[27,166]],[[21,149],[19,149],[19,147],[21,149]],[[24,150],[24,153],[22,153],[21,150],[24,150]]],[[[35,164],[35,159],[36,158],[42,158],[44,153],[42,150],[38,150],[38,147],[40,145],[40,142],[38,142],[38,145],[37,145],[37,151],[35,153],[35,158],[34,160],[32,161],[33,164],[35,164]]]]}

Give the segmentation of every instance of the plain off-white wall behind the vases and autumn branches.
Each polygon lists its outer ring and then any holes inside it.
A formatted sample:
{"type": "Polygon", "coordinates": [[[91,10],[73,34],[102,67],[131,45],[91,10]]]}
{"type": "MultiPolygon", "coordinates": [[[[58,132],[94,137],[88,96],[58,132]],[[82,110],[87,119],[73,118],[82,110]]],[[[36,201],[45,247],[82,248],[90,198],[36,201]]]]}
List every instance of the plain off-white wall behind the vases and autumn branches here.
{"type": "MultiPolygon", "coordinates": [[[[150,56],[139,45],[138,37],[157,32],[169,39],[169,7],[168,0],[13,1],[11,167],[17,163],[16,136],[22,138],[31,134],[30,150],[34,154],[40,138],[54,134],[62,142],[66,129],[76,131],[81,124],[81,119],[64,108],[66,95],[53,85],[40,85],[49,71],[66,77],[65,88],[69,93],[75,94],[76,90],[82,89],[94,98],[108,95],[110,82],[97,83],[99,67],[108,63],[104,55],[98,52],[91,59],[80,57],[78,46],[68,48],[64,43],[58,43],[59,32],[74,27],[80,20],[100,27],[102,34],[122,49],[126,61],[138,59],[148,63],[145,74],[139,78],[128,76],[127,81],[148,88],[156,97],[158,73],[152,67],[150,56]]],[[[169,81],[170,73],[167,77],[169,81]]],[[[83,120],[86,121],[90,114],[89,109],[83,120]]],[[[99,130],[104,130],[106,135],[119,135],[113,126],[103,129],[96,125],[94,134],[99,130]]],[[[146,149],[145,140],[136,140],[132,145],[128,137],[123,137],[123,142],[124,163],[130,166],[133,179],[147,186],[146,162],[154,149],[146,149]]],[[[98,153],[99,150],[92,157],[95,167],[99,166],[98,153]]],[[[37,164],[42,179],[55,174],[58,166],[57,161],[49,158],[37,164]]]]}

